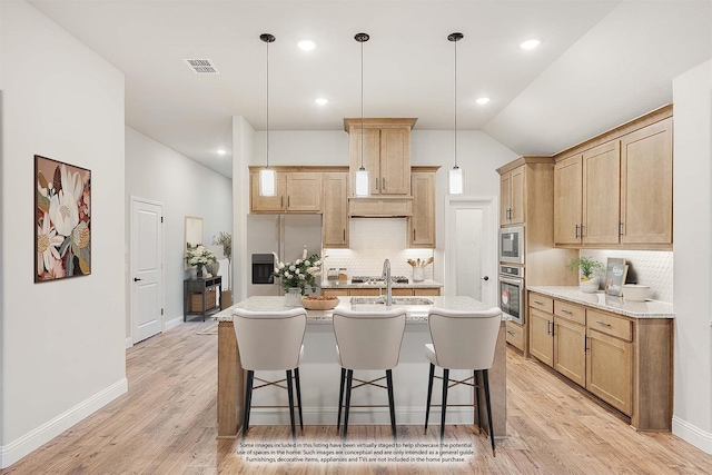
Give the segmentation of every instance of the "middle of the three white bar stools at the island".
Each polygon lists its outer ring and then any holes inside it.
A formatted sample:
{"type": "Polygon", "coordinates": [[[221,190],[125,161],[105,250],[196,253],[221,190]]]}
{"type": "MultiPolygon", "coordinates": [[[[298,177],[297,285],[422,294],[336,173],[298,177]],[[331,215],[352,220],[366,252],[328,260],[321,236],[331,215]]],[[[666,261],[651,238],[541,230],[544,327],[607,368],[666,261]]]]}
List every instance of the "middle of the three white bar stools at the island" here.
{"type": "Polygon", "coordinates": [[[392,369],[398,366],[400,344],[405,333],[405,316],[403,309],[380,311],[334,310],[334,335],[336,336],[336,354],[342,365],[342,382],[338,394],[337,429],[342,423],[342,407],[344,406],[344,384],[346,383],[346,410],[344,414],[344,431],[348,432],[348,413],[352,402],[352,386],[354,370],[385,370],[386,384],[375,384],[383,377],[360,383],[356,387],[373,385],[388,390],[388,409],[390,410],[390,428],[396,437],[396,413],[393,396],[392,369]]]}

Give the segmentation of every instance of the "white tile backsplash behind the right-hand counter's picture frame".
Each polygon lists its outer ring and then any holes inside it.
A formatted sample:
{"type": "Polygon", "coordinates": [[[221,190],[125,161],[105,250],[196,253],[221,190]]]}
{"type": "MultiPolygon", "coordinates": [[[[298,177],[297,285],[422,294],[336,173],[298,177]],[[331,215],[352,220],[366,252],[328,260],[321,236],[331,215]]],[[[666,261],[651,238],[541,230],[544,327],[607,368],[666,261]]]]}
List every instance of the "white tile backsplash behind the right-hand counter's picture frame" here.
{"type": "MultiPolygon", "coordinates": [[[[582,249],[580,255],[600,260],[603,265],[609,257],[624,258],[629,265],[627,283],[650,286],[653,300],[672,304],[672,251],[582,249]]],[[[601,277],[601,281],[605,281],[605,273],[601,277]]]]}

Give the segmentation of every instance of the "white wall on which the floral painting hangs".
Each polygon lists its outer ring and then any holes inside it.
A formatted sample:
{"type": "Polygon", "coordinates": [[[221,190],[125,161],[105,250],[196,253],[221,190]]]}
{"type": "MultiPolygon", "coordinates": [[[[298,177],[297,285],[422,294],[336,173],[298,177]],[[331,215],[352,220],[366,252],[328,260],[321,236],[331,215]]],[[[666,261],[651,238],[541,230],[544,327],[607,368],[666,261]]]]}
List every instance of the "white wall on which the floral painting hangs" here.
{"type": "Polygon", "coordinates": [[[24,1],[0,2],[0,43],[4,467],[127,380],[123,75],[24,1]],[[33,284],[36,154],[91,170],[89,276],[33,284]]]}

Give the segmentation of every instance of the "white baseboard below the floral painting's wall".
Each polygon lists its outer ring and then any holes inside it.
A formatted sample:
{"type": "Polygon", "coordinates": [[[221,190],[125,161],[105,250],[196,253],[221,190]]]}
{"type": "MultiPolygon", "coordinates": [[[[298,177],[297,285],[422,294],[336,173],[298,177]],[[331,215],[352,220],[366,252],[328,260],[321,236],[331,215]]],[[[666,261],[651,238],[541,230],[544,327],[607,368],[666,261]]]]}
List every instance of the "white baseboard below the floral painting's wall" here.
{"type": "Polygon", "coordinates": [[[122,378],[100,390],[51,420],[30,431],[22,437],[0,447],[0,468],[7,468],[32,451],[47,444],[81,419],[99,410],[128,390],[128,379],[122,378]]]}

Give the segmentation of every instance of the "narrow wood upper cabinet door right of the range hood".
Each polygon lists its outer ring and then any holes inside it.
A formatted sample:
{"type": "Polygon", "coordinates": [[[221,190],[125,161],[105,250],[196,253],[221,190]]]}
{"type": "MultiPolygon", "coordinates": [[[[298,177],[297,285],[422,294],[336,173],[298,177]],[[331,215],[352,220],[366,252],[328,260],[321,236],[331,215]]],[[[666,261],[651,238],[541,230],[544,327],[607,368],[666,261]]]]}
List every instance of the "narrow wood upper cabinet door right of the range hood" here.
{"type": "Polygon", "coordinates": [[[435,174],[412,174],[413,216],[408,218],[408,247],[435,247],[435,174]]]}

